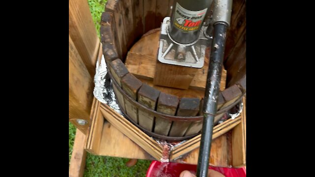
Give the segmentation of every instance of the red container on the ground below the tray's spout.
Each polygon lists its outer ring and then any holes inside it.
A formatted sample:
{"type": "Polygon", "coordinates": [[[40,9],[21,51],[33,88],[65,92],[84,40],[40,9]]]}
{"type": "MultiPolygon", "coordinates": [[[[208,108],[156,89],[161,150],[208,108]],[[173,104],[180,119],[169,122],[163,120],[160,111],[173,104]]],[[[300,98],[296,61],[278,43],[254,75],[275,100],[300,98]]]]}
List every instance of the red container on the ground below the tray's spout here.
{"type": "MultiPolygon", "coordinates": [[[[191,173],[196,173],[197,166],[190,164],[180,164],[173,162],[162,163],[159,161],[152,161],[146,177],[179,177],[184,171],[188,170],[191,173]]],[[[223,168],[223,167],[211,167],[209,169],[220,172],[225,177],[246,177],[246,169],[242,168],[223,168]]]]}

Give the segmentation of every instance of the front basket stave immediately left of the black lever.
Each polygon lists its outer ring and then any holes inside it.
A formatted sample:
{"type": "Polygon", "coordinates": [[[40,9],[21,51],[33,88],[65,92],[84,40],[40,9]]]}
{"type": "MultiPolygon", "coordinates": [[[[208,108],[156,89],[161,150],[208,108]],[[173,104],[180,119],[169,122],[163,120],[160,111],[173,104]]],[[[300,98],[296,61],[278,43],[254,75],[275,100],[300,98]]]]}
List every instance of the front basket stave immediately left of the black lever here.
{"type": "MultiPolygon", "coordinates": [[[[196,116],[199,112],[199,98],[181,98],[176,116],[196,116]]],[[[184,136],[191,122],[174,121],[169,136],[184,136]]]]}

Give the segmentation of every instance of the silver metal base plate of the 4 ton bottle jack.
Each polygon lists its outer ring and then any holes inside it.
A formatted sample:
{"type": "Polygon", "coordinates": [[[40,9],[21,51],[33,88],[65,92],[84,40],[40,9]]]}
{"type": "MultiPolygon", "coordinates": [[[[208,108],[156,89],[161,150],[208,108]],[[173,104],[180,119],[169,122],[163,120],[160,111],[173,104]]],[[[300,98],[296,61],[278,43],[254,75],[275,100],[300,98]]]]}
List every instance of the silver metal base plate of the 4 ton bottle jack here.
{"type": "Polygon", "coordinates": [[[206,45],[209,42],[209,38],[205,35],[207,27],[201,27],[199,37],[196,41],[190,44],[180,44],[169,35],[169,23],[170,17],[165,17],[161,25],[158,60],[167,64],[202,68],[206,45]]]}

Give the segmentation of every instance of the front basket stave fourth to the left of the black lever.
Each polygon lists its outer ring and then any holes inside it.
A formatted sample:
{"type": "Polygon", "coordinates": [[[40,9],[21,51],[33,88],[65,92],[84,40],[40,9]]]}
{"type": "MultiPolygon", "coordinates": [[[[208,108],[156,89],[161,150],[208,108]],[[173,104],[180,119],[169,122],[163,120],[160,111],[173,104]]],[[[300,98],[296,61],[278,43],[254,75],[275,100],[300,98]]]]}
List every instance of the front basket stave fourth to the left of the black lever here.
{"type": "MultiPolygon", "coordinates": [[[[125,90],[126,93],[136,101],[138,97],[137,92],[141,86],[142,86],[142,82],[130,73],[126,74],[122,79],[123,90],[125,90]]],[[[126,114],[130,118],[132,118],[136,123],[138,123],[139,122],[138,109],[135,106],[133,106],[133,104],[127,99],[125,99],[124,101],[125,101],[125,107],[126,107],[126,114]]]]}

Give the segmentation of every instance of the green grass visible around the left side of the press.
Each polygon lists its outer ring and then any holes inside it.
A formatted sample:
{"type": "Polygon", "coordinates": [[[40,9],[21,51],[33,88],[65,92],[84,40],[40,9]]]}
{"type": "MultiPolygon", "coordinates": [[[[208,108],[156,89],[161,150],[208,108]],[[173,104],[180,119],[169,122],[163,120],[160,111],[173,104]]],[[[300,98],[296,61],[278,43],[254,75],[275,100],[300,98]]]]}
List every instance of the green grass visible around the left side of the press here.
{"type": "MultiPolygon", "coordinates": [[[[105,11],[107,0],[88,0],[92,18],[98,36],[100,28],[100,17],[105,11]]],[[[69,165],[72,154],[72,147],[75,138],[75,126],[69,122],[69,165]]],[[[114,147],[113,147],[114,148],[114,147]]],[[[150,160],[138,160],[133,167],[126,167],[128,159],[118,157],[95,156],[87,152],[84,177],[145,177],[150,160]]]]}

